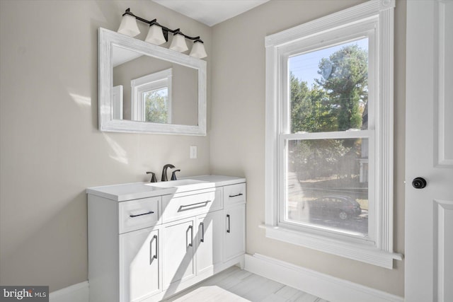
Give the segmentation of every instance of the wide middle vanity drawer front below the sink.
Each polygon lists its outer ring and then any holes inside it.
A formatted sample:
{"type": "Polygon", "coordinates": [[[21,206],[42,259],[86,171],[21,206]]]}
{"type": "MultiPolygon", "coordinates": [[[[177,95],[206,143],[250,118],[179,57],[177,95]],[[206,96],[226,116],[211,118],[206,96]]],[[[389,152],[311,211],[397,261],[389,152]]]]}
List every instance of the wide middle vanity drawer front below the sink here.
{"type": "Polygon", "coordinates": [[[183,197],[162,197],[162,222],[222,209],[222,189],[183,197]]]}

